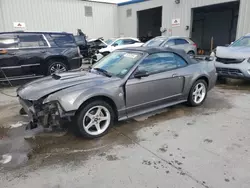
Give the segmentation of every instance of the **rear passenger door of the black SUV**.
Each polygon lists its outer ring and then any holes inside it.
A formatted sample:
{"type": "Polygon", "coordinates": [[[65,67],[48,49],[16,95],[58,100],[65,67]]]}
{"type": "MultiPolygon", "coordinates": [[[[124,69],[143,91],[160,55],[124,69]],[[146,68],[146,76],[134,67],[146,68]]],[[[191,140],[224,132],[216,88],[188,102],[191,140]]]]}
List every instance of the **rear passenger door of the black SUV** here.
{"type": "Polygon", "coordinates": [[[43,74],[42,64],[48,53],[49,44],[42,34],[19,34],[19,64],[25,76],[43,74]]]}

